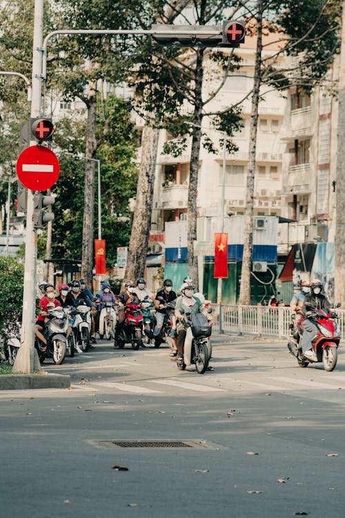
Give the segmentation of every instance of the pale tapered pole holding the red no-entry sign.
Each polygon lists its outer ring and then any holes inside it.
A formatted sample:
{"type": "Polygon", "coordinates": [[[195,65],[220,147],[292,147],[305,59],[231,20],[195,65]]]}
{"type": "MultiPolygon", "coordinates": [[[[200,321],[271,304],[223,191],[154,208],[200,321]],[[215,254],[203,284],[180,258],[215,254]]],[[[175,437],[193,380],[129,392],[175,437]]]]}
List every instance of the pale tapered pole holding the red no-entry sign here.
{"type": "MultiPolygon", "coordinates": [[[[31,117],[41,115],[41,64],[43,42],[43,0],[34,2],[34,37],[32,49],[32,98],[31,117]]],[[[32,142],[32,145],[36,142],[32,142]]],[[[21,347],[14,362],[12,372],[32,374],[41,370],[39,357],[34,348],[34,321],[36,301],[37,235],[34,232],[33,193],[28,189],[26,205],[26,241],[23,286],[23,314],[21,323],[21,347]]]]}

